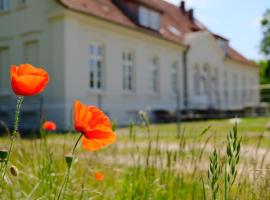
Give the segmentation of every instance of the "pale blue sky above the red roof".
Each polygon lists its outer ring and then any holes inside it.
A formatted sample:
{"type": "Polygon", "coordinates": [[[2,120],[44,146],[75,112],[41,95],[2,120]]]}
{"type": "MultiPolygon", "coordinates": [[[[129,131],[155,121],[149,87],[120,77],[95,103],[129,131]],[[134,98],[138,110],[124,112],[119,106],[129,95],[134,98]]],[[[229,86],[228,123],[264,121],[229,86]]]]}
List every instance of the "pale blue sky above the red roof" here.
{"type": "MultiPolygon", "coordinates": [[[[179,5],[180,0],[166,0],[179,5]]],[[[230,40],[232,47],[250,59],[261,59],[260,19],[270,0],[186,0],[195,16],[212,32],[230,40]]]]}

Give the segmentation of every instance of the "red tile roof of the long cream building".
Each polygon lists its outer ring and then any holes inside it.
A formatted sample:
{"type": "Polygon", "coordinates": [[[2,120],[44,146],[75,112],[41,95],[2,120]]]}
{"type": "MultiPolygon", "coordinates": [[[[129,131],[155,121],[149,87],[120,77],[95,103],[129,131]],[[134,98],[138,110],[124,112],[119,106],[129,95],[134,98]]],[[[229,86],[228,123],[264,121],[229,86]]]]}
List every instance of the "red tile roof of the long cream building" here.
{"type": "MultiPolygon", "coordinates": [[[[180,10],[179,7],[164,0],[134,0],[148,7],[162,12],[161,29],[159,32],[143,28],[129,19],[112,0],[58,0],[66,8],[89,14],[113,23],[117,23],[129,28],[146,32],[180,45],[184,44],[184,35],[193,31],[207,30],[197,19],[190,20],[188,15],[180,10]]],[[[215,35],[216,38],[223,38],[215,35]]],[[[242,62],[247,65],[255,64],[238,53],[235,49],[229,48],[227,57],[242,62]]]]}

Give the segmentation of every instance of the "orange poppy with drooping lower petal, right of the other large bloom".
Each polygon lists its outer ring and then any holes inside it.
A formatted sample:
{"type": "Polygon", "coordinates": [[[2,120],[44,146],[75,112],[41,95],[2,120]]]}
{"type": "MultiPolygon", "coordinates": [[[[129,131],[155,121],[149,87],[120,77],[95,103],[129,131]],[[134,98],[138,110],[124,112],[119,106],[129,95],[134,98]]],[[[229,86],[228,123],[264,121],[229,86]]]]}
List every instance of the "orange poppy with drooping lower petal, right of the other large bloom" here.
{"type": "Polygon", "coordinates": [[[96,151],[116,140],[109,118],[97,107],[74,102],[75,129],[83,134],[85,150],[96,151]]]}

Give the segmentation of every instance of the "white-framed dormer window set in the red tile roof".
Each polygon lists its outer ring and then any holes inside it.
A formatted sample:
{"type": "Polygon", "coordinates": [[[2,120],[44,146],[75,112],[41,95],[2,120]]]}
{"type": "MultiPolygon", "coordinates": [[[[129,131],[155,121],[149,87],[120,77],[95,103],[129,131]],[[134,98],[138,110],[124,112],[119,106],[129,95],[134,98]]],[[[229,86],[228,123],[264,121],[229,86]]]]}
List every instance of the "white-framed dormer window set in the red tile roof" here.
{"type": "Polygon", "coordinates": [[[158,31],[160,29],[160,14],[144,6],[139,7],[140,25],[158,31]]]}

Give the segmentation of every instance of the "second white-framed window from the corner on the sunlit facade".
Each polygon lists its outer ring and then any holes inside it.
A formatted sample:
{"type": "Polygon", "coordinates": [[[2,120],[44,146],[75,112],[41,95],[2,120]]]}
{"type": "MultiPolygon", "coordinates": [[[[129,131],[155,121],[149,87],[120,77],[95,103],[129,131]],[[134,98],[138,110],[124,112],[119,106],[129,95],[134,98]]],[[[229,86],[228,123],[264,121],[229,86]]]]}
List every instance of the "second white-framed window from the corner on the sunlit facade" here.
{"type": "Polygon", "coordinates": [[[122,67],[123,67],[123,90],[131,92],[133,90],[133,71],[134,71],[134,58],[133,53],[130,51],[123,52],[122,54],[122,67]]]}

